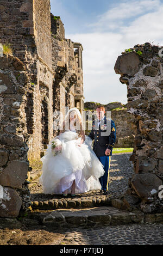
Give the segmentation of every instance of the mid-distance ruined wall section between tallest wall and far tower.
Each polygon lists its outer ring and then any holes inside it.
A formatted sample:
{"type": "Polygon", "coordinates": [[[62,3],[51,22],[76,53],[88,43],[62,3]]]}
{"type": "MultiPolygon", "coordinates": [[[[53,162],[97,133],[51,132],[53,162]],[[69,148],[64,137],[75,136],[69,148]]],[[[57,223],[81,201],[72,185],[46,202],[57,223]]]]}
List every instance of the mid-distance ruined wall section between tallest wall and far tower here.
{"type": "Polygon", "coordinates": [[[55,72],[53,84],[53,111],[65,115],[65,107],[75,106],[78,67],[74,57],[74,44],[65,39],[64,25],[59,17],[51,14],[52,22],[52,65],[55,72]]]}

